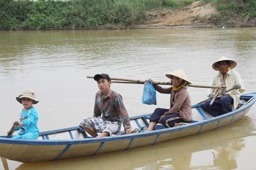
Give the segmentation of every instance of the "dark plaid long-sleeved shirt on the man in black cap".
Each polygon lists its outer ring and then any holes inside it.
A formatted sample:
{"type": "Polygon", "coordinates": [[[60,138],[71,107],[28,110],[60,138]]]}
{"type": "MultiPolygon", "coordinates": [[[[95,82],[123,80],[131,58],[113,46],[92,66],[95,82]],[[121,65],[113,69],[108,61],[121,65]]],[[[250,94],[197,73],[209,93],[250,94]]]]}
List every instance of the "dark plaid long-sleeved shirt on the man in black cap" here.
{"type": "Polygon", "coordinates": [[[97,118],[101,114],[105,121],[117,121],[119,126],[123,123],[124,130],[131,127],[122,96],[111,89],[104,99],[101,91],[96,93],[93,116],[97,118]]]}

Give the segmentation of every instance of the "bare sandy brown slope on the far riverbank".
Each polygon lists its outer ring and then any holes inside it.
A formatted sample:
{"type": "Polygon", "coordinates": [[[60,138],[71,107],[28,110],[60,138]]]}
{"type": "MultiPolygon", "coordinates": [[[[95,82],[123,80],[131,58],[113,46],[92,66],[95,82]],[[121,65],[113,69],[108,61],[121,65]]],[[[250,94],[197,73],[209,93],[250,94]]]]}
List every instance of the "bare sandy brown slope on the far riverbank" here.
{"type": "Polygon", "coordinates": [[[177,10],[163,10],[147,12],[148,20],[134,28],[206,28],[206,27],[255,27],[256,18],[244,19],[229,17],[228,20],[217,20],[213,16],[220,15],[212,3],[195,1],[189,6],[177,10]]]}

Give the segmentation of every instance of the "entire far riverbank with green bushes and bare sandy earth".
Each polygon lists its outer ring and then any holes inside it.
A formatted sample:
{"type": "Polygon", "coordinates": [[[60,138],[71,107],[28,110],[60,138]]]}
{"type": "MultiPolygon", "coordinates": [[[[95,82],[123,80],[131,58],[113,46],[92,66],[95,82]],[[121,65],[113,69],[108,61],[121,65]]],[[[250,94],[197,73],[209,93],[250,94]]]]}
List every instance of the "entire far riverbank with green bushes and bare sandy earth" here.
{"type": "Polygon", "coordinates": [[[0,0],[0,30],[255,27],[256,0],[0,0]]]}

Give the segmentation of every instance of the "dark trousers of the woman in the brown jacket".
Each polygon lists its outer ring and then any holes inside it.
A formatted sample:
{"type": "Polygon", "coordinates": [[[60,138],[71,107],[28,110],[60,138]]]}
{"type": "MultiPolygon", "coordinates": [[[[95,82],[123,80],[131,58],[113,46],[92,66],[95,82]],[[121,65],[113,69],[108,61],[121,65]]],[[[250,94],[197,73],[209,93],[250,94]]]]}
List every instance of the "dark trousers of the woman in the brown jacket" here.
{"type": "MultiPolygon", "coordinates": [[[[164,115],[164,112],[167,112],[169,110],[170,109],[161,109],[161,108],[155,109],[155,111],[150,116],[149,121],[158,122],[160,117],[164,115]]],[[[187,122],[187,121],[182,120],[182,118],[180,118],[179,113],[172,113],[164,116],[159,123],[164,125],[164,127],[169,128],[169,127],[174,127],[175,123],[180,123],[180,122],[187,122]]]]}

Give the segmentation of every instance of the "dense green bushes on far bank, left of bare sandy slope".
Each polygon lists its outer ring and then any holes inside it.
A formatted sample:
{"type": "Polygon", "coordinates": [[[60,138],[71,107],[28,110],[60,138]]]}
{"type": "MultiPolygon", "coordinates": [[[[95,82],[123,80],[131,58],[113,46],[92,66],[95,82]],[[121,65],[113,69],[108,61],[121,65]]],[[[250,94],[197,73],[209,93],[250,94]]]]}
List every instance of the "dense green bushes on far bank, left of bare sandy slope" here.
{"type": "Polygon", "coordinates": [[[0,29],[90,29],[131,26],[146,11],[180,8],[193,1],[173,0],[0,0],[0,29]]]}

